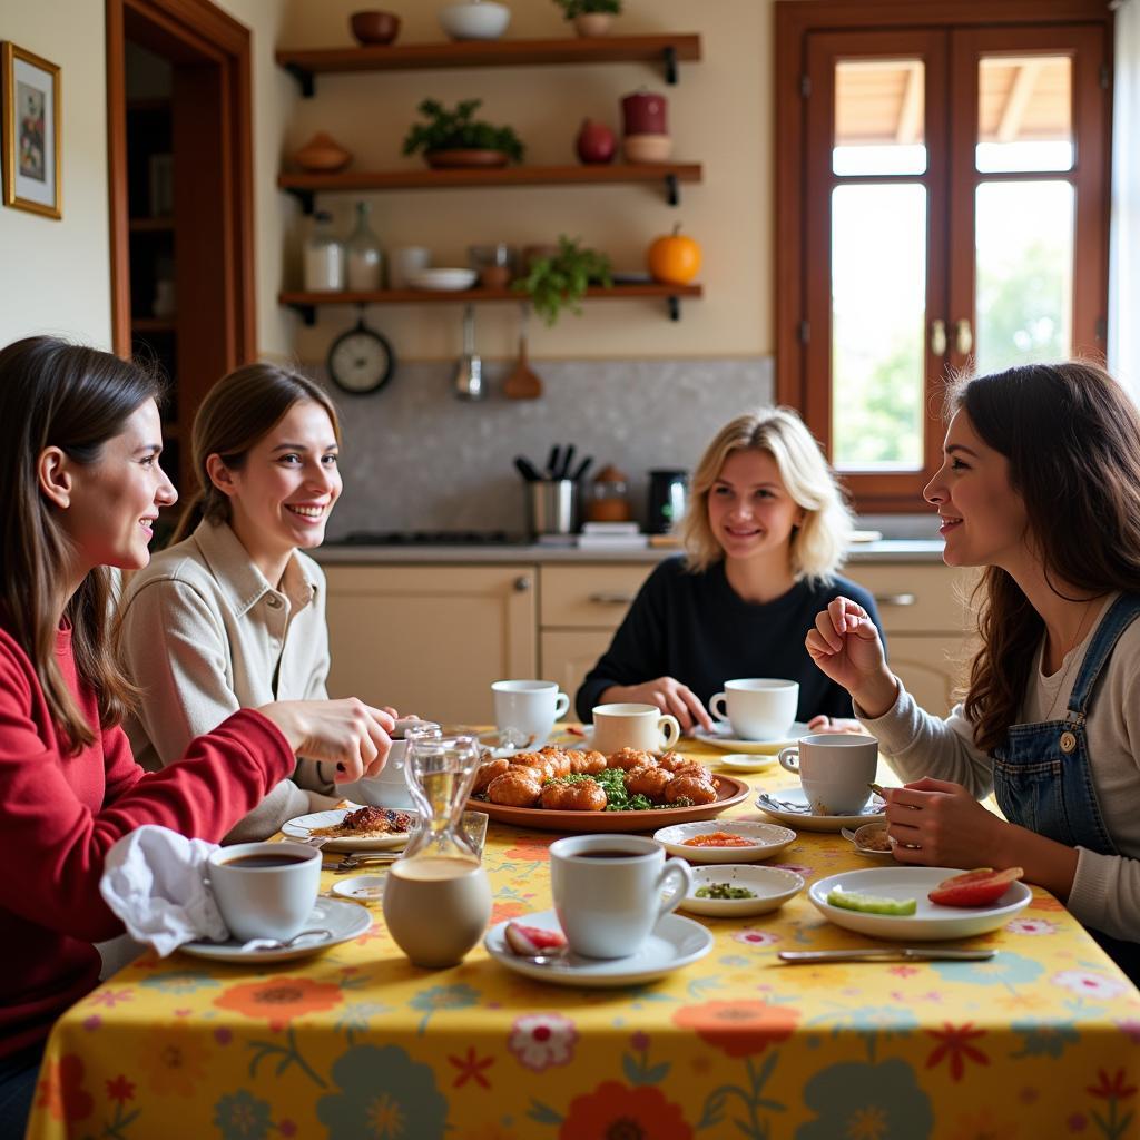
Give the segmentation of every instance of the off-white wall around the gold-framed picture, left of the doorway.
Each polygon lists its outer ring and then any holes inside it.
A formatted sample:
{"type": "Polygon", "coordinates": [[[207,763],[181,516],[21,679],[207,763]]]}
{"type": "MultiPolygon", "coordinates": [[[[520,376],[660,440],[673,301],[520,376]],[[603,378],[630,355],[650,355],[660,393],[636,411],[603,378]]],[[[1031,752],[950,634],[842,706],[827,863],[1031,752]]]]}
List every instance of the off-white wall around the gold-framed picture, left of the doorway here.
{"type": "Polygon", "coordinates": [[[56,333],[111,347],[104,9],[0,0],[0,39],[63,68],[63,219],[0,207],[0,345],[56,333]]]}

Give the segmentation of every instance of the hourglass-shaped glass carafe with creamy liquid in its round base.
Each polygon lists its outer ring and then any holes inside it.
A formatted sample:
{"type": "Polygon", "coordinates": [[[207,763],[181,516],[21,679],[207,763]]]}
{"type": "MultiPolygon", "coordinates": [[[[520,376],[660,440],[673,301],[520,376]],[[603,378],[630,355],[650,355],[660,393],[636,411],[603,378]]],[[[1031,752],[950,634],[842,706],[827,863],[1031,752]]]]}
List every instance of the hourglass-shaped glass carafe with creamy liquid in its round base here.
{"type": "Polygon", "coordinates": [[[416,966],[457,964],[487,929],[490,885],[461,828],[481,760],[474,736],[414,736],[404,755],[421,823],[388,872],[384,921],[416,966]]]}

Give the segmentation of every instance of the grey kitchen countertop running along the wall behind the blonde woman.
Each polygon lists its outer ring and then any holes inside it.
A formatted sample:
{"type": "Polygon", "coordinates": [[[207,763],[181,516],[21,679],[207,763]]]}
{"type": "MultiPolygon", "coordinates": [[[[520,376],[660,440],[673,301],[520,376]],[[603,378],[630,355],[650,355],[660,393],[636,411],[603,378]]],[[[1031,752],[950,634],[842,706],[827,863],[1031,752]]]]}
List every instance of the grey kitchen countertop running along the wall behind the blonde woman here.
{"type": "MultiPolygon", "coordinates": [[[[852,547],[848,562],[942,562],[944,543],[940,538],[888,538],[877,543],[860,543],[852,547]]],[[[648,549],[579,549],[577,546],[546,546],[520,540],[494,545],[400,545],[349,546],[335,542],[308,552],[325,565],[400,565],[408,563],[495,564],[495,563],[564,563],[564,562],[660,562],[679,554],[679,547],[648,549]]]]}

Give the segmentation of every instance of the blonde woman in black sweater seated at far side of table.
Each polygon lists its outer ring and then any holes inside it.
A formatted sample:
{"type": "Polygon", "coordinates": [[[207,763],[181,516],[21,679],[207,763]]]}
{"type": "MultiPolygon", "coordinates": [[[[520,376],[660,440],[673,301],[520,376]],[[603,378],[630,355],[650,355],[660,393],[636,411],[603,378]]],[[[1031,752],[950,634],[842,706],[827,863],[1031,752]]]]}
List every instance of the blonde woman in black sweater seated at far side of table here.
{"type": "MultiPolygon", "coordinates": [[[[650,575],[609,650],[578,690],[577,709],[642,701],[685,728],[711,727],[707,706],[733,677],[799,682],[797,718],[845,727],[850,697],[804,649],[821,608],[866,591],[836,575],[852,518],[819,445],[789,408],[738,416],[693,473],[683,556],[650,575]]],[[[848,722],[854,724],[854,722],[848,722]]]]}

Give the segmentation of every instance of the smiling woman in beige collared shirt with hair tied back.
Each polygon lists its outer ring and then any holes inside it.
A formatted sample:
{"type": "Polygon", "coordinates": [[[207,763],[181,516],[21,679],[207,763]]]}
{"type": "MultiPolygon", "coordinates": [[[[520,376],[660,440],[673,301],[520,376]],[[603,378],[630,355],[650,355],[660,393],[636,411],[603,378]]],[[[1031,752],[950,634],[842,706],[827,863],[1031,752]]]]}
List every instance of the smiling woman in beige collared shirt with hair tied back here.
{"type": "MultiPolygon", "coordinates": [[[[197,494],[122,600],[120,652],[142,694],[127,731],[144,767],[177,760],[236,709],[327,697],[325,576],[303,551],[341,494],[339,446],[335,407],[299,373],[247,365],[206,394],[197,494]]],[[[266,839],[332,807],[332,791],[328,765],[301,758],[227,841],[266,839]]]]}

